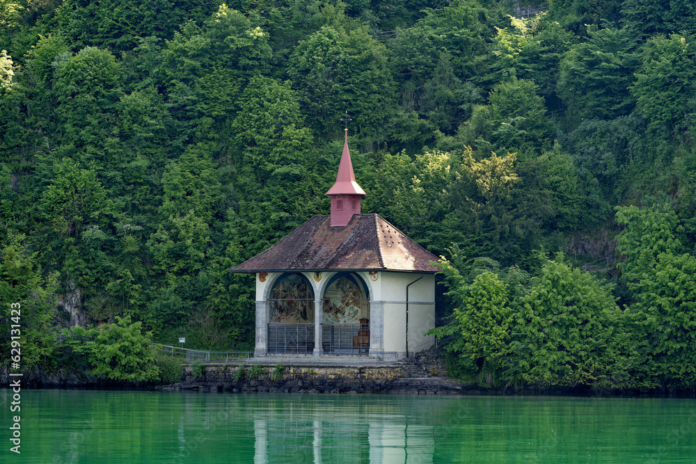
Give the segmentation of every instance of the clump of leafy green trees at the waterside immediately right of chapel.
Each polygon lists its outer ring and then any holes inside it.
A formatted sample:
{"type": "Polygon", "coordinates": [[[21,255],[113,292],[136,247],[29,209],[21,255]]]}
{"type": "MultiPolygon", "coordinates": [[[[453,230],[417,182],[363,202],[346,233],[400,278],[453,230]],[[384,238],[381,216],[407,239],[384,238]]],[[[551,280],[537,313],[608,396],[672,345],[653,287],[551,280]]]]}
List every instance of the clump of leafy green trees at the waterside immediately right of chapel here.
{"type": "Polygon", "coordinates": [[[450,262],[440,266],[459,303],[454,321],[433,332],[461,331],[462,339],[448,346],[461,356],[461,374],[499,386],[642,386],[631,376],[635,342],[611,286],[562,255],[544,259],[533,278],[514,267],[500,271],[495,262],[492,270],[475,263],[467,282],[450,262]]]}

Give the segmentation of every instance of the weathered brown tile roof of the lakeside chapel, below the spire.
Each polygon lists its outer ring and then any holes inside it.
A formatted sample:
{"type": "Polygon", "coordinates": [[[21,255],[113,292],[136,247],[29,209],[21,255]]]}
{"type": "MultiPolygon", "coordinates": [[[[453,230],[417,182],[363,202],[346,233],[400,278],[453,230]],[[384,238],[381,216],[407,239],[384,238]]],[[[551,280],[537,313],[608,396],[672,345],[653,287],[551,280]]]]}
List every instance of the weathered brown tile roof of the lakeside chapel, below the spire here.
{"type": "Polygon", "coordinates": [[[434,273],[438,269],[429,262],[437,259],[379,214],[356,214],[344,227],[331,227],[331,216],[317,215],[230,271],[374,269],[434,273]]]}

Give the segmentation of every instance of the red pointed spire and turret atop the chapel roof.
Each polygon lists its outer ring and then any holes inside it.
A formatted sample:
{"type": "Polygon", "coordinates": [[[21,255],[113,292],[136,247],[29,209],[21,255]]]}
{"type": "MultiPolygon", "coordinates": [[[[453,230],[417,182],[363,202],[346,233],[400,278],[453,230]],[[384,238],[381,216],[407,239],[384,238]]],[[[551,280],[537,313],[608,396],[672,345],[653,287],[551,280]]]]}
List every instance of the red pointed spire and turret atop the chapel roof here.
{"type": "Polygon", "coordinates": [[[353,163],[348,150],[348,129],[345,132],[343,154],[338,165],[336,182],[326,195],[331,196],[332,227],[348,225],[354,214],[360,214],[360,200],[365,196],[365,191],[358,185],[353,173],[353,163]]]}

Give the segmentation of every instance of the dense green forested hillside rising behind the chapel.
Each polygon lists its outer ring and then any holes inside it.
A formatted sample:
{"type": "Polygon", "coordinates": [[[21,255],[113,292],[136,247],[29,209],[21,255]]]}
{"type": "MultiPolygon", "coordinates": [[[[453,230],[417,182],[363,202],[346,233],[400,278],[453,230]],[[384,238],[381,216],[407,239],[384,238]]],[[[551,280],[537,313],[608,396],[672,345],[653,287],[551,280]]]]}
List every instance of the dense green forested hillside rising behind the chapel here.
{"type": "Polygon", "coordinates": [[[448,259],[463,375],[696,385],[691,1],[0,0],[0,50],[33,362],[117,317],[249,346],[228,269],[329,212],[347,112],[363,211],[448,259]]]}

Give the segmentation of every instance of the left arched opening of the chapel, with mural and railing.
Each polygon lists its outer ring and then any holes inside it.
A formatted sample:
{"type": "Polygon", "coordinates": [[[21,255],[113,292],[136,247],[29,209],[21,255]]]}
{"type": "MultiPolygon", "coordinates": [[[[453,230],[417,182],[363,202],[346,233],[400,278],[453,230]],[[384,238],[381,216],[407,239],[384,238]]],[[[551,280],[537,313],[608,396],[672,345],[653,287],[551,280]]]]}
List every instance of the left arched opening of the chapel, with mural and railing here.
{"type": "Polygon", "coordinates": [[[314,349],[314,290],[300,273],[284,273],[268,299],[269,353],[311,353],[314,349]]]}

